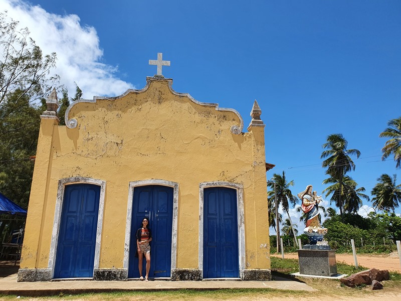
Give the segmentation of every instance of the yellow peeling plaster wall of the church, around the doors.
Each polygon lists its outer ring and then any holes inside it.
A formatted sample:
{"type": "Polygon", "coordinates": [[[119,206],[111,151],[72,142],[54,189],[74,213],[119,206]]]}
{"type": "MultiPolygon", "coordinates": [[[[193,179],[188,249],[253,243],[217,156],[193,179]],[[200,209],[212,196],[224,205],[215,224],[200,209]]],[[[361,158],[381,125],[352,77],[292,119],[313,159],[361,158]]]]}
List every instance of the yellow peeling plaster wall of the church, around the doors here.
{"type": "Polygon", "coordinates": [[[235,111],[197,103],[148,78],[141,91],[78,101],[75,128],[42,119],[28,210],[22,268],[47,268],[58,181],[105,181],[99,268],[122,268],[129,183],[161,179],[179,184],[177,268],[198,268],[199,183],[244,188],[246,268],[269,269],[264,128],[234,134],[235,111]]]}

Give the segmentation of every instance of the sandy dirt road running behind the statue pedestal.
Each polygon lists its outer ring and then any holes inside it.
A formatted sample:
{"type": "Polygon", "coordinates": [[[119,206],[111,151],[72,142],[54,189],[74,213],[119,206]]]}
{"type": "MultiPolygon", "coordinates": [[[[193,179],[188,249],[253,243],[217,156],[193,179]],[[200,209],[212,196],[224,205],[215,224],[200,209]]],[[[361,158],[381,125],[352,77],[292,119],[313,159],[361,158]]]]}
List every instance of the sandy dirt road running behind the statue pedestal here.
{"type": "MultiPolygon", "coordinates": [[[[272,256],[280,257],[281,254],[274,254],[272,256]]],[[[336,254],[337,261],[344,261],[347,264],[354,265],[354,256],[352,254],[336,254]]],[[[284,253],[284,258],[298,259],[298,253],[284,253]]],[[[390,271],[397,271],[401,273],[401,263],[396,252],[389,255],[356,255],[358,265],[368,268],[387,269],[390,271]]],[[[400,299],[401,300],[401,299],[400,299]]]]}

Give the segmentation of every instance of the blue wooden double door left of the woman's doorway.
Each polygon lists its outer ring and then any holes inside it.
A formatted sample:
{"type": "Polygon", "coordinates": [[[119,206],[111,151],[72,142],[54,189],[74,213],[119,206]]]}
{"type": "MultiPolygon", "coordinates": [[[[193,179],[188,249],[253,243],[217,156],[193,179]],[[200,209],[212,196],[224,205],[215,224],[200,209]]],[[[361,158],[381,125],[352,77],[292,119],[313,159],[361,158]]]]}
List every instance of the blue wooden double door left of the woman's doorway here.
{"type": "Polygon", "coordinates": [[[93,277],[100,186],[66,186],[54,278],[93,277]]]}

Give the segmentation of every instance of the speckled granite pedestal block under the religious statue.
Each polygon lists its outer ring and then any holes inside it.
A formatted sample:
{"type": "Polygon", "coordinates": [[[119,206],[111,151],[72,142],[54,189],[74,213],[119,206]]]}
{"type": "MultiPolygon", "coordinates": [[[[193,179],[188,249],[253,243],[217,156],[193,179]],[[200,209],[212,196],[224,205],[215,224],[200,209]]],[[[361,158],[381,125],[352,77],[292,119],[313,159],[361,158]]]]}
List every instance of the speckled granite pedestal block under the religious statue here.
{"type": "Polygon", "coordinates": [[[335,250],[319,249],[313,245],[313,249],[305,249],[308,245],[298,250],[299,273],[315,276],[333,276],[337,275],[337,263],[335,260],[335,250]]]}

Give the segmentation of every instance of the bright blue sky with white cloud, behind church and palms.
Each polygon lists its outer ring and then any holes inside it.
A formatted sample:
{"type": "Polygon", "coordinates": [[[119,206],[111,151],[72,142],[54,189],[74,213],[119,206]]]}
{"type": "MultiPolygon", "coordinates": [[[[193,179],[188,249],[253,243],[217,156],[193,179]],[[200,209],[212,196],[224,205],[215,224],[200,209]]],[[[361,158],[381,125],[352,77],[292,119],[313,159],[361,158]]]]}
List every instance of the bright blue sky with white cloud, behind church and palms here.
{"type": "MultiPolygon", "coordinates": [[[[55,72],[71,95],[74,82],[85,98],[143,88],[156,73],[148,60],[162,52],[175,91],[238,110],[245,131],[257,99],[266,161],[276,165],[268,179],[285,171],[294,194],[308,184],[322,193],[320,155],[331,133],[360,150],[349,175],[368,195],[383,173],[401,183],[395,163],[381,162],[378,137],[401,116],[398,0],[0,0],[0,7],[30,28],[44,53],[57,52],[55,72]]],[[[364,204],[361,214],[371,205],[364,204]]]]}

